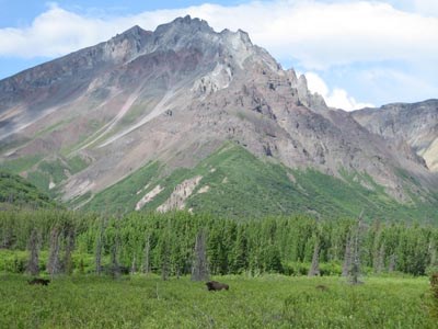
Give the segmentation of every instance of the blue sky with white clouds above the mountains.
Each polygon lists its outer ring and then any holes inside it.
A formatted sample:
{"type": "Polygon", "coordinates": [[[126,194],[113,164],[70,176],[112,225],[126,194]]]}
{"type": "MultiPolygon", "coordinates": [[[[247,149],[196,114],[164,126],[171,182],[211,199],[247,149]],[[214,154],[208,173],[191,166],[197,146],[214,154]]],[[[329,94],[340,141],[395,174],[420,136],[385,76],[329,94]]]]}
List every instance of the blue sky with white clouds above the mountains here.
{"type": "Polygon", "coordinates": [[[134,25],[241,29],[347,111],[438,98],[438,0],[0,0],[0,79],[134,25]]]}

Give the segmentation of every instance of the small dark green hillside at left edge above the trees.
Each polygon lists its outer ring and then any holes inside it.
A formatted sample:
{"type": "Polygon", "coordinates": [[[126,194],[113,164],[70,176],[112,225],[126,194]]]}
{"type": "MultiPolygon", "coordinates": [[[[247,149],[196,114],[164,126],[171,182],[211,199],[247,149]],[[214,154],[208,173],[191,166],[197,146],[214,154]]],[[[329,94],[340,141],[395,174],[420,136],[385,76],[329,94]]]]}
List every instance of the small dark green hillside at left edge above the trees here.
{"type": "Polygon", "coordinates": [[[0,204],[12,206],[55,206],[50,197],[20,175],[0,171],[0,204]]]}

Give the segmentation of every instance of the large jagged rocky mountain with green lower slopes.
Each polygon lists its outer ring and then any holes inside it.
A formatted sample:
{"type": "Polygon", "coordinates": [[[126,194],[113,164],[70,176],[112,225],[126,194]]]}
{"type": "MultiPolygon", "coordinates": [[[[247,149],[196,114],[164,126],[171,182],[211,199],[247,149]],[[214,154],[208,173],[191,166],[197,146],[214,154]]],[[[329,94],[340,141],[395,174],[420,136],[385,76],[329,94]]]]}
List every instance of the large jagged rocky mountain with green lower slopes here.
{"type": "Polygon", "coordinates": [[[0,143],[1,167],[72,207],[436,218],[437,175],[408,145],[189,16],[1,80],[0,143]]]}

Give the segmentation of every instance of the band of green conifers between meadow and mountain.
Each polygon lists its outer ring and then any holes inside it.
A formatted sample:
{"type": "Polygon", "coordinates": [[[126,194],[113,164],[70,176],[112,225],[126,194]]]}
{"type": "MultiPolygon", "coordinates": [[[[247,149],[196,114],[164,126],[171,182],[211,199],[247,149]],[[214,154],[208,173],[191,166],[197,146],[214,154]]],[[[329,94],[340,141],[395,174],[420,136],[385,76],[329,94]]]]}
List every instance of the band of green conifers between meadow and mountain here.
{"type": "Polygon", "coordinates": [[[0,213],[0,248],[25,250],[16,271],[32,274],[153,272],[168,279],[284,273],[350,275],[357,281],[360,272],[424,275],[437,266],[437,242],[433,226],[356,218],[0,213]]]}

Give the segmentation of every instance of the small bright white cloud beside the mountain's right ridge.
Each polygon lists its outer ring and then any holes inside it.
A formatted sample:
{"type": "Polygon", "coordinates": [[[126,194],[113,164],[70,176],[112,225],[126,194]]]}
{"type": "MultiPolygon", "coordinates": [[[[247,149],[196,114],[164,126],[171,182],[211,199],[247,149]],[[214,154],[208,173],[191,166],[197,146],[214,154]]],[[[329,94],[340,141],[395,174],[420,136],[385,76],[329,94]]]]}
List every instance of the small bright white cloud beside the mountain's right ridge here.
{"type": "Polygon", "coordinates": [[[347,91],[342,88],[334,88],[331,90],[325,81],[315,72],[307,72],[309,90],[321,94],[326,104],[332,107],[343,109],[345,111],[353,111],[364,107],[374,107],[370,103],[357,102],[355,98],[348,95],[347,91]]]}

